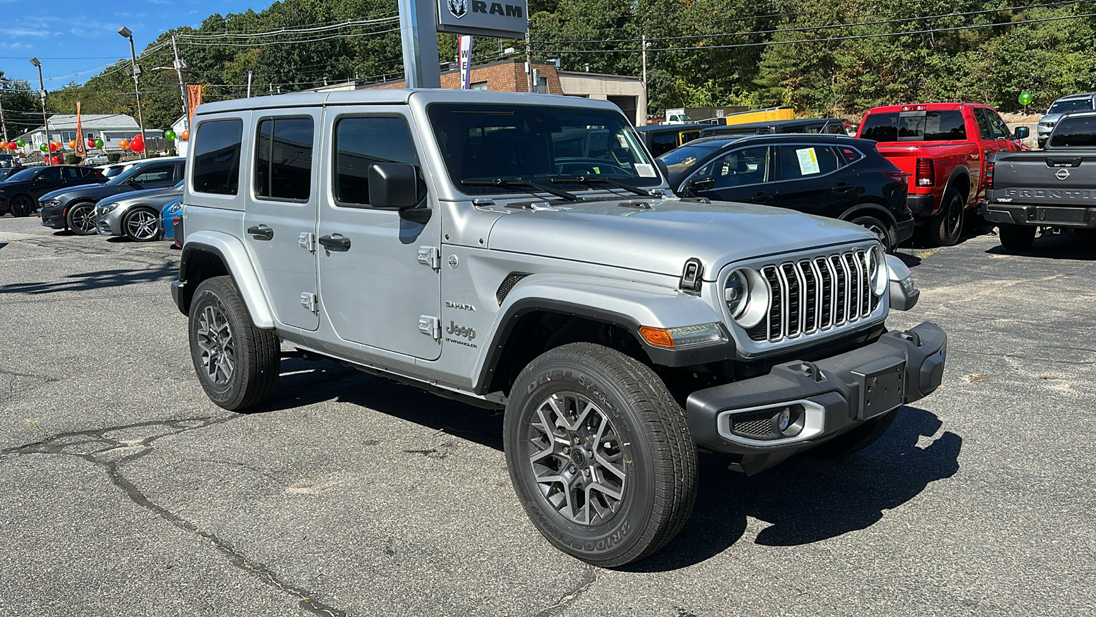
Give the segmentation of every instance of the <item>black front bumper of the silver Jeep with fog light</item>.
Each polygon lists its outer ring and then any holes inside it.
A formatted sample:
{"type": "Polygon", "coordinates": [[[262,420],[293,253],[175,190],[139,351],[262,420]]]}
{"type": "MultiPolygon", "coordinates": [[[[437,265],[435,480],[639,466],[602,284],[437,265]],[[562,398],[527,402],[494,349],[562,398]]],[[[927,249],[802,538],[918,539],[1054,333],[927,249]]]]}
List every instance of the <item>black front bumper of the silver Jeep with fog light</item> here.
{"type": "Polygon", "coordinates": [[[927,396],[940,385],[946,354],[947,335],[926,322],[817,362],[777,364],[766,375],[694,392],[685,403],[693,440],[709,450],[742,455],[749,473],[767,469],[927,396]],[[740,425],[742,418],[784,407],[799,410],[798,433],[765,440],[734,428],[749,424],[740,425]]]}

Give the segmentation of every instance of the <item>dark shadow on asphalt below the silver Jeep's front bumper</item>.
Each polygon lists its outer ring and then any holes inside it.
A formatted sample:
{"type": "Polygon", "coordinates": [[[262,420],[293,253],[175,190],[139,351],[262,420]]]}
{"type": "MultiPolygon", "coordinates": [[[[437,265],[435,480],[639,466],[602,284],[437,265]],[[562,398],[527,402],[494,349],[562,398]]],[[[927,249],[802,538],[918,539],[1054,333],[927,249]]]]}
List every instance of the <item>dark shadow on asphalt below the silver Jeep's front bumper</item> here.
{"type": "Polygon", "coordinates": [[[768,524],[755,543],[799,546],[866,529],[959,469],[962,438],[945,431],[927,447],[922,437],[941,422],[917,407],[902,407],[887,434],[872,446],[836,461],[795,457],[753,476],[727,470],[726,459],[700,459],[700,486],[693,516],[660,552],[626,568],[661,572],[694,565],[732,547],[746,517],[768,524]]]}

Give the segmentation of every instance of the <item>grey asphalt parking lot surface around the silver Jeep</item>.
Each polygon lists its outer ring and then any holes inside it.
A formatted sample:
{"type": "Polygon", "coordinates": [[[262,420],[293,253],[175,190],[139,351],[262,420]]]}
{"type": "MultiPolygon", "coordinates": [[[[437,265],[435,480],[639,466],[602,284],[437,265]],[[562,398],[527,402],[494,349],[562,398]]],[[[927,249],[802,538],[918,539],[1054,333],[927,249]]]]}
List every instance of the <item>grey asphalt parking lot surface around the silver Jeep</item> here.
{"type": "Polygon", "coordinates": [[[701,456],[682,535],[601,570],[526,519],[500,415],[296,359],[226,412],[179,251],[0,217],[0,615],[1096,613],[1096,242],[902,253],[941,390],[843,461],[701,456]]]}

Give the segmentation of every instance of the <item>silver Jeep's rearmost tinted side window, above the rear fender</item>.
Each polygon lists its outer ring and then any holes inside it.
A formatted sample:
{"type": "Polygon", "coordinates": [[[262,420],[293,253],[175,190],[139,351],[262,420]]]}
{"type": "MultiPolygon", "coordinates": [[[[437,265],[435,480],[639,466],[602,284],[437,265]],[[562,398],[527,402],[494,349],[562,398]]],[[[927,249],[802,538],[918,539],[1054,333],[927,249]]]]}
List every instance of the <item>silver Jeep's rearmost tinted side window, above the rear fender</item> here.
{"type": "Polygon", "coordinates": [[[199,193],[235,195],[240,184],[242,120],[214,120],[198,125],[194,136],[192,188],[199,193]]]}

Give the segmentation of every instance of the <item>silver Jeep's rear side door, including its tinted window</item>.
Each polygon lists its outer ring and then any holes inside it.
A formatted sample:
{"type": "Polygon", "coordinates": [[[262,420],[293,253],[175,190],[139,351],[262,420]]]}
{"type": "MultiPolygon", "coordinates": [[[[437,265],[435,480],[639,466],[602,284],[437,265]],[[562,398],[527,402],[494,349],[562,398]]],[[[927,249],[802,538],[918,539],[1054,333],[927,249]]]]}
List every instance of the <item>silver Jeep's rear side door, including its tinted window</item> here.
{"type": "Polygon", "coordinates": [[[320,119],[319,109],[254,111],[244,142],[244,243],[274,316],[305,330],[320,323],[312,253],[320,119]]]}

